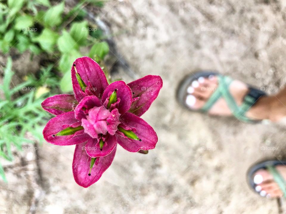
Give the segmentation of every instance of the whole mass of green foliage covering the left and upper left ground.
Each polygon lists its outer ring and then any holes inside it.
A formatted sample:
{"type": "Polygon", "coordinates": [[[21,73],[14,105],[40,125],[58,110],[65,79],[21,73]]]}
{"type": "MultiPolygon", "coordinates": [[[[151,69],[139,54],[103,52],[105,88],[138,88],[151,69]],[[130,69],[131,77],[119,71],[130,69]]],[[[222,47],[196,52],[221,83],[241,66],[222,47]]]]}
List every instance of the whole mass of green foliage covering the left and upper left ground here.
{"type": "MultiPolygon", "coordinates": [[[[5,97],[0,99],[0,157],[12,160],[11,149],[21,150],[23,143],[33,143],[27,132],[34,140],[43,140],[42,123],[50,116],[42,110],[41,102],[57,90],[72,91],[70,71],[76,58],[89,55],[103,62],[109,47],[101,41],[102,30],[85,21],[85,7],[102,7],[103,3],[81,0],[65,11],[64,1],[0,0],[0,52],[9,56],[11,49],[20,54],[29,50],[31,60],[37,54],[46,59],[40,71],[27,75],[23,83],[12,88],[12,60],[8,59],[0,84],[5,97]]],[[[1,163],[0,176],[5,180],[1,163]]]]}

